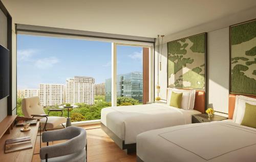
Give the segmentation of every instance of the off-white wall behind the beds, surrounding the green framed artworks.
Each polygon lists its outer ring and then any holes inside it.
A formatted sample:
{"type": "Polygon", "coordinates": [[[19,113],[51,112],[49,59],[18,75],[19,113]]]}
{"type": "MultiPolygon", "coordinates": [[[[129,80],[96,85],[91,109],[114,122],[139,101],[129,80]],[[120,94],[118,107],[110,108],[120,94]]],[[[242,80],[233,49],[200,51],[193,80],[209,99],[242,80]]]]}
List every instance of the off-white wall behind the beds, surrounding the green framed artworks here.
{"type": "MultiPolygon", "coordinates": [[[[229,94],[229,26],[239,22],[256,18],[256,8],[240,13],[229,15],[221,19],[196,26],[164,37],[162,52],[162,71],[159,73],[159,85],[161,91],[159,96],[166,100],[167,87],[167,44],[166,42],[188,37],[191,35],[207,32],[208,40],[208,97],[207,104],[214,107],[216,111],[228,113],[229,94]]],[[[161,34],[161,33],[159,33],[161,34]]],[[[157,42],[157,40],[156,40],[157,42]]],[[[155,85],[157,85],[157,43],[155,47],[155,85]]],[[[156,86],[155,86],[156,87],[156,86]]],[[[155,89],[155,96],[157,92],[155,89]]],[[[227,116],[221,113],[221,115],[227,116]]]]}

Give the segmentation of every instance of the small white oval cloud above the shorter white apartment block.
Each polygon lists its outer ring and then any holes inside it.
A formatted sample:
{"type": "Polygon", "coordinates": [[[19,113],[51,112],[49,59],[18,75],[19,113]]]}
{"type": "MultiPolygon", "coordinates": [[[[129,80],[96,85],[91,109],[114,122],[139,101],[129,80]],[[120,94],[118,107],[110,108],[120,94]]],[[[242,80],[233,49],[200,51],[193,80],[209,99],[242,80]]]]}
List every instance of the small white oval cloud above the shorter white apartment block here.
{"type": "Polygon", "coordinates": [[[56,57],[42,58],[35,61],[35,66],[40,69],[46,69],[52,67],[54,64],[58,62],[59,60],[56,57]]]}

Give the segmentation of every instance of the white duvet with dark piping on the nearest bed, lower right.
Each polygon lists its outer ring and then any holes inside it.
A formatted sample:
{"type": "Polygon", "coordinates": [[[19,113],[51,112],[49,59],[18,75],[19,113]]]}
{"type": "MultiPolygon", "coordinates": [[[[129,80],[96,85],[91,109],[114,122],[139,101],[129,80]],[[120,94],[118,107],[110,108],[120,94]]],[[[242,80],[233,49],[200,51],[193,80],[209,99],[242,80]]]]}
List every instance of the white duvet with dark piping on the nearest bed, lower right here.
{"type": "Polygon", "coordinates": [[[256,161],[256,129],[231,121],[151,130],[137,136],[137,156],[153,161],[256,161]]]}

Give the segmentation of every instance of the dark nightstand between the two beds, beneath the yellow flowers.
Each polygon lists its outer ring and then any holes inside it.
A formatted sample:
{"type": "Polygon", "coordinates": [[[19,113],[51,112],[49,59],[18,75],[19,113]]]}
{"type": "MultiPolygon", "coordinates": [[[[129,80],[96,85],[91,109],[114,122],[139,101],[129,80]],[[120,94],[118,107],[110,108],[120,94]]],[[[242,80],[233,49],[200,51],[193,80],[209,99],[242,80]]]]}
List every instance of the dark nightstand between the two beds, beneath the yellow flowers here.
{"type": "Polygon", "coordinates": [[[207,113],[195,114],[192,115],[192,123],[204,123],[204,122],[214,122],[214,121],[223,121],[228,118],[221,117],[220,115],[213,115],[211,119],[209,119],[207,113]]]}

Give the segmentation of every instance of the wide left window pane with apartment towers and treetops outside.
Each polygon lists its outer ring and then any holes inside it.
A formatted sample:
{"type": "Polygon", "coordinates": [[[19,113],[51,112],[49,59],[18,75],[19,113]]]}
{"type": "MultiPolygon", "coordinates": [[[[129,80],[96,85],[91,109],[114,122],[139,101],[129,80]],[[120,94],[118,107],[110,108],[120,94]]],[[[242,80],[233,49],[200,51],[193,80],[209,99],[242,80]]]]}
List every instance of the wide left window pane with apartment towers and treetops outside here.
{"type": "Polygon", "coordinates": [[[108,78],[110,42],[17,35],[18,115],[22,98],[38,96],[46,112],[71,103],[79,106],[70,112],[73,122],[100,119],[101,108],[111,106],[111,98],[105,99],[108,78]]]}

